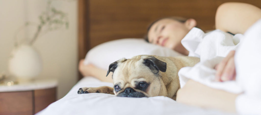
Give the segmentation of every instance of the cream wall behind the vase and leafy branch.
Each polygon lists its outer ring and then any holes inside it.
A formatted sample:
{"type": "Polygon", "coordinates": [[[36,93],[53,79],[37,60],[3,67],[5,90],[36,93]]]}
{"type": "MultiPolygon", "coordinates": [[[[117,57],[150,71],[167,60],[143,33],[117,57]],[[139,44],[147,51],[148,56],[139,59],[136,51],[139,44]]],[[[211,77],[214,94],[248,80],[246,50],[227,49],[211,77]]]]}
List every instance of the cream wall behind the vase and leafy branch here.
{"type": "MultiPolygon", "coordinates": [[[[38,16],[45,11],[47,0],[0,0],[0,73],[8,72],[8,58],[14,48],[15,31],[26,21],[39,23],[38,16]]],[[[67,12],[69,29],[54,30],[40,36],[34,43],[43,60],[40,79],[58,79],[58,99],[77,81],[77,0],[52,2],[56,9],[67,12]]],[[[34,32],[25,29],[19,38],[28,38],[34,32]]],[[[76,91],[75,91],[76,92],[76,91]]]]}

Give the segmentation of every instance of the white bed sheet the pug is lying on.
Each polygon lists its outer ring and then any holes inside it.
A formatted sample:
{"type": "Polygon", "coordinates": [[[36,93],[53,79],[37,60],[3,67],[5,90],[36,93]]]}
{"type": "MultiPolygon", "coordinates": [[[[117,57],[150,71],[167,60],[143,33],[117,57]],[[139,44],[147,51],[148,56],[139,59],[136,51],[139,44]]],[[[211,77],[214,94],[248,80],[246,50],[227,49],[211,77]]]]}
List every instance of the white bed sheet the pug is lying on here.
{"type": "Polygon", "coordinates": [[[221,115],[230,114],[217,110],[187,106],[163,96],[150,98],[116,97],[111,94],[90,93],[77,94],[81,87],[112,86],[93,77],[81,79],[62,99],[50,104],[37,115],[221,115]]]}

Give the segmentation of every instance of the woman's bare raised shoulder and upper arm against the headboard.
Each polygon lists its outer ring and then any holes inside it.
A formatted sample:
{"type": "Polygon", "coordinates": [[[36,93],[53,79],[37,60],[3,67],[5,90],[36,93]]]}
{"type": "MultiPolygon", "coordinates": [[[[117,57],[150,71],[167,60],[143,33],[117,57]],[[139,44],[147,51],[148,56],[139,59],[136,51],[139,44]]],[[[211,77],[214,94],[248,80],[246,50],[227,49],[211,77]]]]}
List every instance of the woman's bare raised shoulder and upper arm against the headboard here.
{"type": "Polygon", "coordinates": [[[254,5],[238,2],[223,3],[216,12],[216,29],[233,34],[244,34],[260,18],[261,9],[254,5]]]}

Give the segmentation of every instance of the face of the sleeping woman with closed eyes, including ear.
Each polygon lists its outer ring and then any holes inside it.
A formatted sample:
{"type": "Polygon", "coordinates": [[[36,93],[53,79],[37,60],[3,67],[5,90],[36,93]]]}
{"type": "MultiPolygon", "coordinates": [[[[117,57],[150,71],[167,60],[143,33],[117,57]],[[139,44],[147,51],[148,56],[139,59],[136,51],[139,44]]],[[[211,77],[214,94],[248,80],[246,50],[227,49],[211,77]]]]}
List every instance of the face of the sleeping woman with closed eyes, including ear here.
{"type": "MultiPolygon", "coordinates": [[[[163,18],[157,21],[148,31],[149,42],[176,51],[184,50],[185,48],[181,45],[181,40],[193,27],[195,27],[195,24],[191,27],[191,24],[188,22],[189,20],[190,19],[185,23],[181,23],[171,18],[163,18]]],[[[194,19],[192,20],[195,21],[194,19]]],[[[183,51],[180,53],[182,52],[183,51]]]]}

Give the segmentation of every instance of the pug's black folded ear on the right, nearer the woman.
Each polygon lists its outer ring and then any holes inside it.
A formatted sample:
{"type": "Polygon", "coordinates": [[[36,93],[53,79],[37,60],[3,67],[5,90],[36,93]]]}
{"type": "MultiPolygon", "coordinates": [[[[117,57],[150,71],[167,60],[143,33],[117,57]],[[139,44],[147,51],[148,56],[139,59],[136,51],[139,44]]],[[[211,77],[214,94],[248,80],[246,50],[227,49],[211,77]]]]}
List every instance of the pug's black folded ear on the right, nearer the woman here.
{"type": "Polygon", "coordinates": [[[159,71],[166,72],[167,63],[157,59],[156,57],[149,56],[143,60],[143,64],[149,67],[153,73],[157,74],[159,71]]]}

